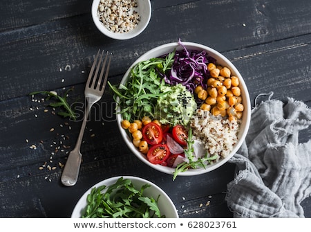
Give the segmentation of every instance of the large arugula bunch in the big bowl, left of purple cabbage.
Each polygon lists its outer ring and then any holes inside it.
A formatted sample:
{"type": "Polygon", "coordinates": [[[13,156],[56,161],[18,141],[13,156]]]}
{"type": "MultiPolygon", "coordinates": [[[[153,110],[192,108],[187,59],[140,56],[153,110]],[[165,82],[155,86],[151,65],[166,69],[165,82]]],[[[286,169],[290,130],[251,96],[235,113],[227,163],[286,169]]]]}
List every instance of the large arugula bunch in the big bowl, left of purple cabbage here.
{"type": "Polygon", "coordinates": [[[119,88],[108,82],[113,91],[113,99],[120,107],[118,114],[129,121],[153,116],[157,99],[167,94],[160,92],[160,85],[165,84],[161,79],[171,69],[174,55],[175,51],[165,57],[139,62],[131,68],[128,82],[120,84],[119,88]]]}

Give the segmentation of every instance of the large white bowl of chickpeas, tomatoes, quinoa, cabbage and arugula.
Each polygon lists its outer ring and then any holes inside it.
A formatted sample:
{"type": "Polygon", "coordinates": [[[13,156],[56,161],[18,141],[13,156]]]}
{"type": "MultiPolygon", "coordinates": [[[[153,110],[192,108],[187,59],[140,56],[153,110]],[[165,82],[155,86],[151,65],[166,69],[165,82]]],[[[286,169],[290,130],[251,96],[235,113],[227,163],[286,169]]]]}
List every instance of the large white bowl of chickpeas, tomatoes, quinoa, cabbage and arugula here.
{"type": "Polygon", "coordinates": [[[213,48],[164,44],[138,58],[119,86],[109,83],[126,145],[151,168],[200,175],[241,147],[250,100],[241,73],[213,48]]]}

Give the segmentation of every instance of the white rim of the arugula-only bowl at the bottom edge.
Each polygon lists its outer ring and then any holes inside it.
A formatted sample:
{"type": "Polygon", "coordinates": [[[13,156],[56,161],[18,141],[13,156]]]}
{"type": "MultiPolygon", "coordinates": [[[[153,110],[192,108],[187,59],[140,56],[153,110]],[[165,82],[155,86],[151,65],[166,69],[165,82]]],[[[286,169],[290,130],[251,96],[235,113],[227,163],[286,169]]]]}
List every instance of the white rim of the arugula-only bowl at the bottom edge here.
{"type": "Polygon", "coordinates": [[[73,208],[73,213],[71,214],[71,218],[77,218],[77,217],[81,217],[81,211],[86,207],[86,197],[88,196],[89,193],[91,193],[91,190],[93,188],[98,188],[100,186],[106,185],[109,186],[111,184],[114,184],[115,181],[117,181],[117,179],[120,179],[120,177],[123,177],[123,179],[130,179],[131,181],[139,181],[141,183],[144,184],[150,184],[151,188],[156,188],[156,190],[158,190],[158,192],[160,193],[160,198],[164,197],[167,201],[167,204],[169,204],[168,206],[171,207],[172,211],[171,214],[173,215],[172,217],[169,218],[178,218],[178,213],[177,213],[177,209],[176,206],[173,204],[173,201],[171,200],[171,198],[169,197],[169,195],[167,195],[167,193],[164,192],[164,190],[162,190],[162,188],[160,188],[158,185],[154,184],[153,182],[147,180],[147,179],[143,179],[141,177],[135,177],[135,176],[116,176],[116,177],[110,177],[108,179],[104,179],[100,182],[98,182],[97,184],[94,184],[91,188],[88,188],[88,190],[86,190],[86,192],[82,195],[82,197],[79,198],[77,204],[75,204],[75,208],[73,208]]]}

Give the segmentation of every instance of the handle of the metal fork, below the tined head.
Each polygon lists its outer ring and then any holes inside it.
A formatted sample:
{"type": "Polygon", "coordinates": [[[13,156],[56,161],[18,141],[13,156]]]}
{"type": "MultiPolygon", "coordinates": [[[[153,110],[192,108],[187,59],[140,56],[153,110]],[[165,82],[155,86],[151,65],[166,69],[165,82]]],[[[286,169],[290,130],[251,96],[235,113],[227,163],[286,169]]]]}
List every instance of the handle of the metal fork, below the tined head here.
{"type": "Polygon", "coordinates": [[[77,143],[75,144],[75,148],[68,155],[68,159],[66,161],[65,168],[62,173],[61,181],[65,186],[74,186],[77,183],[77,178],[79,176],[79,169],[81,166],[82,154],[80,152],[80,147],[83,139],[84,129],[86,126],[86,121],[88,118],[88,114],[91,110],[93,104],[87,104],[85,108],[85,115],[82,121],[82,126],[79,132],[79,136],[77,139],[77,143]]]}

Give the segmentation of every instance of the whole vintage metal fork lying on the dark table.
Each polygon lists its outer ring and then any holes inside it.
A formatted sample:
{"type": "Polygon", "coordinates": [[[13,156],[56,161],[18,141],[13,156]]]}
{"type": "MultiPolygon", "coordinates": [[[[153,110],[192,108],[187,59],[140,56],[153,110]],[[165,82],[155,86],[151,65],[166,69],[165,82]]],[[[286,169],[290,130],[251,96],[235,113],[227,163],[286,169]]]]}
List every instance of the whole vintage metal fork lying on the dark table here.
{"type": "Polygon", "coordinates": [[[77,143],[75,145],[75,148],[70,152],[68,159],[66,161],[65,168],[62,173],[62,184],[65,186],[74,186],[77,183],[77,178],[79,175],[79,169],[82,161],[82,154],[80,152],[80,147],[83,139],[84,129],[86,125],[86,121],[88,118],[88,114],[90,113],[91,107],[93,104],[102,98],[102,95],[104,93],[104,89],[106,87],[106,82],[108,78],[109,73],[109,67],[111,62],[111,53],[107,51],[106,56],[104,58],[104,64],[102,64],[102,57],[104,55],[104,51],[100,54],[100,50],[97,52],[97,55],[95,56],[93,65],[91,67],[90,74],[88,75],[88,80],[86,82],[86,87],[84,90],[84,95],[86,98],[87,105],[85,107],[85,114],[81,126],[81,130],[79,132],[79,136],[77,139],[77,143]],[[98,58],[100,57],[99,61],[97,62],[98,58]],[[107,60],[108,64],[106,66],[107,60]],[[102,64],[102,69],[100,71],[100,66],[102,64]],[[105,72],[105,66],[106,66],[106,73],[103,80],[103,75],[105,72]],[[96,70],[95,70],[96,67],[96,70]],[[93,75],[95,71],[95,74],[93,75]],[[98,75],[98,72],[100,71],[100,75],[98,75]]]}

